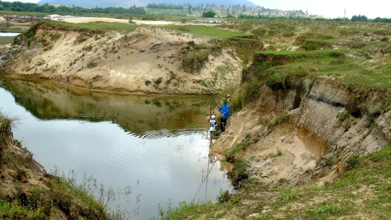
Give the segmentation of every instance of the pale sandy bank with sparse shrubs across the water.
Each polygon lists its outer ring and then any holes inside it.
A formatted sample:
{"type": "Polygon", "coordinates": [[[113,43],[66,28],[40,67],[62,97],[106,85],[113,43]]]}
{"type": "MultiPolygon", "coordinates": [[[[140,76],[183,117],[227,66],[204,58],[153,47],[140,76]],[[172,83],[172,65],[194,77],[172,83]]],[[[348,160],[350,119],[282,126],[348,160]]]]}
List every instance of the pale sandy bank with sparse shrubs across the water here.
{"type": "Polygon", "coordinates": [[[197,71],[184,70],[194,65],[192,56],[208,50],[199,73],[219,93],[239,86],[241,64],[232,47],[214,49],[214,45],[207,37],[157,27],[116,32],[38,24],[17,39],[12,51],[6,51],[3,66],[10,74],[82,88],[208,94],[197,71]]]}

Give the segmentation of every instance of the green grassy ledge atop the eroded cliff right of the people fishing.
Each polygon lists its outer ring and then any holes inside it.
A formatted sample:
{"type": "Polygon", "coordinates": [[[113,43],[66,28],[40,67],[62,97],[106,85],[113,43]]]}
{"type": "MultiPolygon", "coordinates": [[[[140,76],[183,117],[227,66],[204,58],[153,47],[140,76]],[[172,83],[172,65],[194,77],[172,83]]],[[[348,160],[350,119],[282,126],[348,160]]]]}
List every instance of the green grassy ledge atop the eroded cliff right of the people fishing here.
{"type": "Polygon", "coordinates": [[[385,58],[364,59],[361,50],[267,51],[254,54],[244,81],[259,80],[272,88],[286,88],[313,76],[333,76],[340,83],[376,89],[391,88],[390,64],[385,58]]]}

